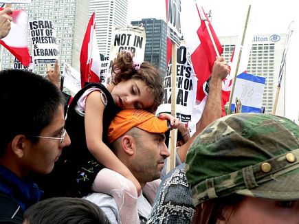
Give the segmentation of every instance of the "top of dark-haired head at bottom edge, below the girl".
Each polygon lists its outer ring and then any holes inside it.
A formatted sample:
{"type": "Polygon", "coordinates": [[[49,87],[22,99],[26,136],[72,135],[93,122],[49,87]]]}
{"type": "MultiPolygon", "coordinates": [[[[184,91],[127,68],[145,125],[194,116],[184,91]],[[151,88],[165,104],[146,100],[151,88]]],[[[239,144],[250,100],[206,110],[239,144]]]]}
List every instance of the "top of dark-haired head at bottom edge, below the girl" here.
{"type": "Polygon", "coordinates": [[[56,197],[39,201],[24,213],[29,224],[109,224],[98,205],[80,198],[56,197]]]}

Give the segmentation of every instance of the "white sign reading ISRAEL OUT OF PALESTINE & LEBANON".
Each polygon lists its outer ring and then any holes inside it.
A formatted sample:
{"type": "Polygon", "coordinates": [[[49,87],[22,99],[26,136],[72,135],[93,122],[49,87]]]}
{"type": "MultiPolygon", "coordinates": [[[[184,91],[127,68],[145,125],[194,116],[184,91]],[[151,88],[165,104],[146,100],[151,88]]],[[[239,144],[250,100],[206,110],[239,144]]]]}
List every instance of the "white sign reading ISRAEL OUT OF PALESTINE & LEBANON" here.
{"type": "Polygon", "coordinates": [[[35,64],[54,64],[58,59],[56,31],[52,21],[30,21],[32,56],[35,64]]]}

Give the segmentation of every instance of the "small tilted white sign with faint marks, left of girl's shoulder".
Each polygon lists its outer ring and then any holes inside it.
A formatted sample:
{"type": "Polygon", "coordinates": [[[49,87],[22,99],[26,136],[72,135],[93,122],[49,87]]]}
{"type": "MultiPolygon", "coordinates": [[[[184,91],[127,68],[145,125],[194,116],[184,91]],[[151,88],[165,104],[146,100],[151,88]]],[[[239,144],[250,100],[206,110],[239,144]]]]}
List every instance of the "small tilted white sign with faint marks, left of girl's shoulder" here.
{"type": "Polygon", "coordinates": [[[75,94],[81,89],[80,73],[67,63],[63,65],[63,80],[63,84],[65,88],[69,89],[71,96],[75,96],[75,94]]]}

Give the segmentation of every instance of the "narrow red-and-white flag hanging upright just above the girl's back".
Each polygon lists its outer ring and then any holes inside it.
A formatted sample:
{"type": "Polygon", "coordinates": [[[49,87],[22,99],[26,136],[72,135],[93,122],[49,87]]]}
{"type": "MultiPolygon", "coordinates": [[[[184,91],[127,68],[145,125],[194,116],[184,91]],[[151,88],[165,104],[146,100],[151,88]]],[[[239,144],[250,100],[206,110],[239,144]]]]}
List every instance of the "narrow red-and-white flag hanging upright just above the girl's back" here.
{"type": "Polygon", "coordinates": [[[81,87],[85,82],[100,82],[100,53],[98,52],[98,43],[96,41],[96,12],[93,12],[80,52],[80,72],[81,87]]]}

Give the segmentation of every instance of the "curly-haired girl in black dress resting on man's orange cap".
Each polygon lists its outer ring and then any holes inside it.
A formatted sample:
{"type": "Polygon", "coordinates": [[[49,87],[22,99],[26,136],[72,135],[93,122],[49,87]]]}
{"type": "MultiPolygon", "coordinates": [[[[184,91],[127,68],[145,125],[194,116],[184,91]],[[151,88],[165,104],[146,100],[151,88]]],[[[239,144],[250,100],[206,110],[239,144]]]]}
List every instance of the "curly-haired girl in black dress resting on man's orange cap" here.
{"type": "MultiPolygon", "coordinates": [[[[107,88],[89,83],[69,105],[65,129],[71,145],[61,155],[65,178],[70,183],[66,190],[71,197],[85,196],[91,190],[112,194],[122,223],[139,223],[137,211],[135,214],[132,211],[136,210],[140,183],[107,146],[107,130],[121,109],[146,109],[154,113],[164,98],[164,87],[159,71],[151,63],[136,63],[132,52],[118,54],[112,74],[107,88]],[[123,220],[124,217],[128,219],[123,220]]],[[[173,127],[179,125],[175,117],[162,116],[173,127]]]]}

